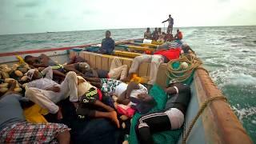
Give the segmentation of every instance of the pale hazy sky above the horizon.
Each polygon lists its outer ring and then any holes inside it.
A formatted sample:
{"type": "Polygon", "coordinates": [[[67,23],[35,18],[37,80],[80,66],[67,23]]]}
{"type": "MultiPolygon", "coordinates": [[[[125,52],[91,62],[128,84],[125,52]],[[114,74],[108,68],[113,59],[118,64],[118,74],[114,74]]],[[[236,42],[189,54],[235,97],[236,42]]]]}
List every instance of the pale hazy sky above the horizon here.
{"type": "Polygon", "coordinates": [[[256,25],[256,0],[0,0],[0,34],[256,25]],[[165,24],[167,26],[167,23],[165,24]]]}

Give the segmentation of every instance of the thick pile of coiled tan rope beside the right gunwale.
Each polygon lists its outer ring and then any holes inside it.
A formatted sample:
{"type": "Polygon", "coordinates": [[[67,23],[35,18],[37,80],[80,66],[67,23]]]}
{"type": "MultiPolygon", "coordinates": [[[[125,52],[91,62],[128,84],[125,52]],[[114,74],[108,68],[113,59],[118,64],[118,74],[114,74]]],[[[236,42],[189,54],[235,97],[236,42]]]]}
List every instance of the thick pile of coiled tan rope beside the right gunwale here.
{"type": "Polygon", "coordinates": [[[171,60],[167,65],[166,74],[168,78],[174,79],[176,82],[184,82],[186,79],[190,78],[190,75],[198,68],[198,66],[202,65],[202,61],[195,55],[182,54],[180,58],[171,60]],[[174,62],[186,62],[188,67],[184,70],[180,65],[177,69],[174,69],[174,62]]]}

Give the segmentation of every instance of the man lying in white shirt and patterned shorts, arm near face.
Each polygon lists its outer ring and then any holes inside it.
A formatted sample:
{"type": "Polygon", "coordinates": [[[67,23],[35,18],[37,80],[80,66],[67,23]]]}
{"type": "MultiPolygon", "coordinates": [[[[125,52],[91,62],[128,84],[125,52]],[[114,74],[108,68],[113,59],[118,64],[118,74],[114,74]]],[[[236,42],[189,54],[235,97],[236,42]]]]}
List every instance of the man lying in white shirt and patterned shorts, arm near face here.
{"type": "Polygon", "coordinates": [[[117,96],[117,102],[132,107],[138,112],[146,113],[156,102],[148,94],[145,86],[137,82],[126,84],[110,78],[88,78],[89,82],[97,86],[106,96],[117,96]]]}

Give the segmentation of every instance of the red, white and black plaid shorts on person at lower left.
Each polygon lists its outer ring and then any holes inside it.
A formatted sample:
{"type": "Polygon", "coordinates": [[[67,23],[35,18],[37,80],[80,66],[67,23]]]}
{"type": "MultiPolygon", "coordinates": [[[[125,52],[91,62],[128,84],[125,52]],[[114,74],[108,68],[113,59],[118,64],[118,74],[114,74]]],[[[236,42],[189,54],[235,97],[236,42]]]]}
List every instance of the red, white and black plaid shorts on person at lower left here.
{"type": "Polygon", "coordinates": [[[0,132],[0,143],[58,143],[57,134],[70,130],[59,123],[18,122],[0,132]]]}

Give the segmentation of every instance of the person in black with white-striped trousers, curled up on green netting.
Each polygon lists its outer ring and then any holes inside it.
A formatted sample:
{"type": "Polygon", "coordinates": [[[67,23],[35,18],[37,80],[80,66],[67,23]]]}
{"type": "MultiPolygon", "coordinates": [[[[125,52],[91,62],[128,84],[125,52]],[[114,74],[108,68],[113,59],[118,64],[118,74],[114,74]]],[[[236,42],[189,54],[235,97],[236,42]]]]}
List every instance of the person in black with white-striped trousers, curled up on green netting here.
{"type": "Polygon", "coordinates": [[[153,144],[152,134],[182,127],[191,97],[190,86],[174,83],[166,89],[166,94],[173,95],[174,98],[166,102],[165,110],[146,114],[138,119],[136,134],[140,143],[153,144]]]}

